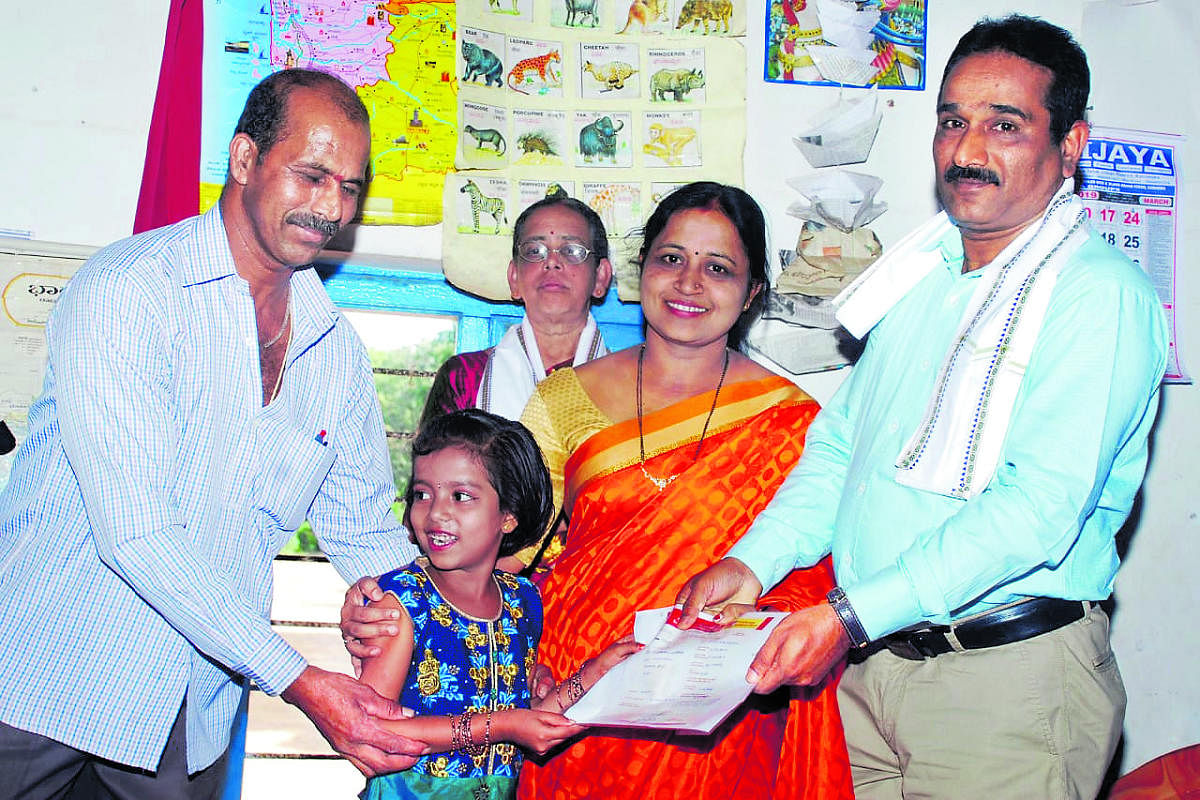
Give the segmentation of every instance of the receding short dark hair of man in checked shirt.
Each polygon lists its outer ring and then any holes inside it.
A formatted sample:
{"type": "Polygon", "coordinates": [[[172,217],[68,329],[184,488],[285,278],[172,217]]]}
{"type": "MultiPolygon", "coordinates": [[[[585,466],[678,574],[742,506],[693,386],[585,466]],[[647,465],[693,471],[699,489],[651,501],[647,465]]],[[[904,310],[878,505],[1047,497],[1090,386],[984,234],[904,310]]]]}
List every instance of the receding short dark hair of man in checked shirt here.
{"type": "Polygon", "coordinates": [[[366,106],[341,78],[299,67],[280,70],[250,90],[246,107],[241,110],[238,127],[234,130],[234,136],[245,133],[257,145],[259,161],[283,136],[288,122],[288,98],[296,89],[322,91],[334,108],[346,115],[346,119],[364,127],[371,124],[366,106]]]}

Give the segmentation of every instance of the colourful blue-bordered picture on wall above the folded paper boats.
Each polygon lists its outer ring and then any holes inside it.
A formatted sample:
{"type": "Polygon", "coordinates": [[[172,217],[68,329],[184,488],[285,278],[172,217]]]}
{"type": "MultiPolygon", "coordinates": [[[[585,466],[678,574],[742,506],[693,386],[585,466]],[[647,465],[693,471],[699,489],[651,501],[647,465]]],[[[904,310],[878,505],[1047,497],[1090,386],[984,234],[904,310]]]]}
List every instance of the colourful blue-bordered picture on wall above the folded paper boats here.
{"type": "Polygon", "coordinates": [[[768,0],[764,78],[925,88],[925,0],[768,0]]]}

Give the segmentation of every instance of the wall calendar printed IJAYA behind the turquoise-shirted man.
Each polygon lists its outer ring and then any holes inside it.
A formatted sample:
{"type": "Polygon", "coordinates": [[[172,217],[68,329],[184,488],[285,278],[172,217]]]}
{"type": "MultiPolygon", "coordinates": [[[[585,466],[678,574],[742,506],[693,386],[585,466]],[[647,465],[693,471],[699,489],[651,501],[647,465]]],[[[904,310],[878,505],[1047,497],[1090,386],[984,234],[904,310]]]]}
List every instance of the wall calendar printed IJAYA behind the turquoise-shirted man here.
{"type": "Polygon", "coordinates": [[[1139,264],[1158,290],[1170,331],[1163,378],[1169,384],[1192,383],[1177,348],[1175,314],[1182,142],[1180,136],[1093,126],[1079,160],[1079,194],[1092,227],[1139,264]]]}

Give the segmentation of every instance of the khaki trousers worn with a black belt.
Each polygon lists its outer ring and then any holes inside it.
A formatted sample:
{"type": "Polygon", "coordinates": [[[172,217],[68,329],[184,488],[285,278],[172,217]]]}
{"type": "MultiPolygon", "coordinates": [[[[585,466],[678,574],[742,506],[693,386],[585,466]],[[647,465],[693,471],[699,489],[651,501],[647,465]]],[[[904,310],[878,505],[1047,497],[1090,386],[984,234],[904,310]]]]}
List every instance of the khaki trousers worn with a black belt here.
{"type": "Polygon", "coordinates": [[[998,648],[910,661],[887,650],[838,688],[859,800],[1086,798],[1099,790],[1126,692],[1099,608],[998,648]]]}

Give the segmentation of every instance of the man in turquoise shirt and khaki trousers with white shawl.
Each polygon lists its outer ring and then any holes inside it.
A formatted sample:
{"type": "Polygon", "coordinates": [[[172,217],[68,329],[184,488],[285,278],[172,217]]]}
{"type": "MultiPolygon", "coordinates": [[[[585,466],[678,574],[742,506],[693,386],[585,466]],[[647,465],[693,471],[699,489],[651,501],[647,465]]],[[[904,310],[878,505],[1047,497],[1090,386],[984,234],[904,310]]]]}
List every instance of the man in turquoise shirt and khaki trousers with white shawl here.
{"type": "Polygon", "coordinates": [[[946,215],[839,299],[870,330],[862,360],[754,527],[680,593],[690,616],[833,554],[828,603],[791,614],[748,680],[816,684],[853,649],[839,700],[859,798],[1091,798],[1120,738],[1093,603],[1168,338],[1146,276],[1069,192],[1087,94],[1061,29],[1014,16],[964,36],[934,137],[946,215]]]}

